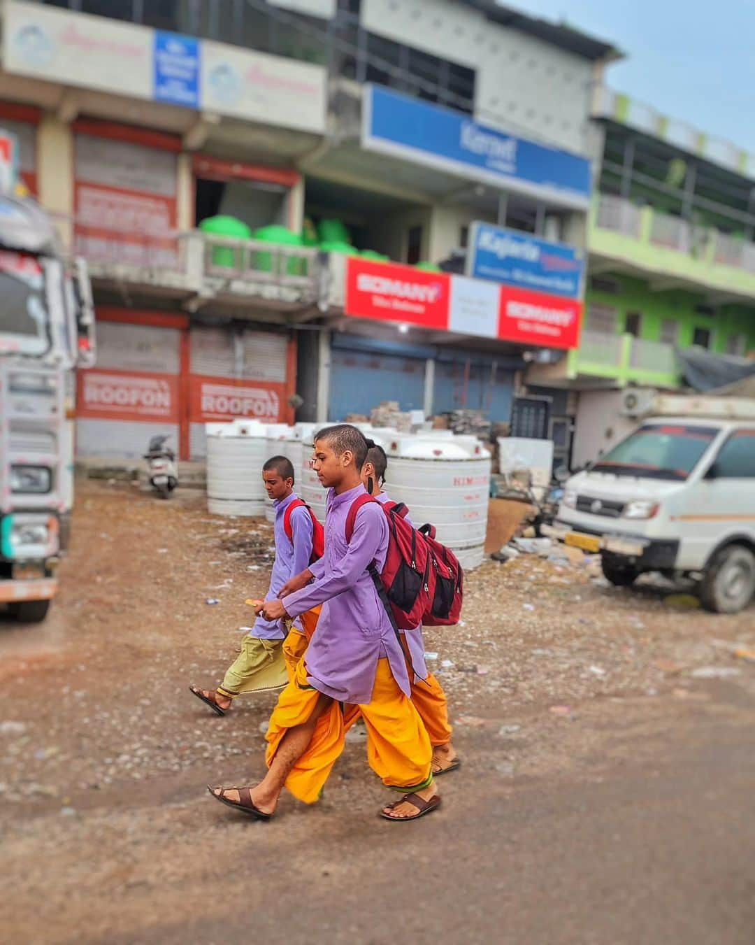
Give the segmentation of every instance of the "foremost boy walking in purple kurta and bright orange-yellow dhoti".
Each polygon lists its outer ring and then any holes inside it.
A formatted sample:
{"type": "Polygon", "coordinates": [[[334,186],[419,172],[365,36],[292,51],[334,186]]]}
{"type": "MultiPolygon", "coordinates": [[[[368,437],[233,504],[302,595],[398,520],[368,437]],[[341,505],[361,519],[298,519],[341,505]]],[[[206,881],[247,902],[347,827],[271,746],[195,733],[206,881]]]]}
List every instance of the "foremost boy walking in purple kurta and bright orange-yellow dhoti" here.
{"type": "Polygon", "coordinates": [[[215,799],[259,819],[273,816],[284,786],[306,803],[319,798],[343,751],[346,705],[359,706],[365,720],[370,767],[403,795],[381,816],[413,820],[440,804],[433,750],[409,697],[403,648],[368,571],[372,561],[382,569],[386,558],[382,509],[373,503],[359,508],[346,541],[352,502],[365,492],[360,471],[366,455],[367,442],[355,427],[340,424],[317,436],[314,468],[331,489],[325,555],[289,582],[296,590],[263,609],[266,619],[279,620],[322,604],[317,632],[270,718],[263,781],[209,788],[215,799]]]}

